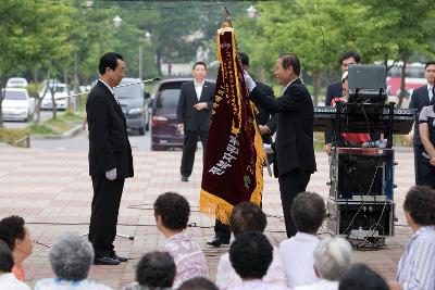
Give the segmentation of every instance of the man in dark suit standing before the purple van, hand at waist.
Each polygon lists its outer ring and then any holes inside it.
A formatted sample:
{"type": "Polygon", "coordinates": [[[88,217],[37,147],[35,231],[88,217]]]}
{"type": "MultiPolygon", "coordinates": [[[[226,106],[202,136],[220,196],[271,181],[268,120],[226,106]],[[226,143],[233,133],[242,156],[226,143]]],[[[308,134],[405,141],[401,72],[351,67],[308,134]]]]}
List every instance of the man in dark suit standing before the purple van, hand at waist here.
{"type": "Polygon", "coordinates": [[[202,142],[203,155],[209,137],[214,84],[206,80],[207,65],[194,64],[194,80],[182,85],[177,108],[177,128],[184,130],[182,181],[188,181],[194,168],[198,137],[202,142]]]}

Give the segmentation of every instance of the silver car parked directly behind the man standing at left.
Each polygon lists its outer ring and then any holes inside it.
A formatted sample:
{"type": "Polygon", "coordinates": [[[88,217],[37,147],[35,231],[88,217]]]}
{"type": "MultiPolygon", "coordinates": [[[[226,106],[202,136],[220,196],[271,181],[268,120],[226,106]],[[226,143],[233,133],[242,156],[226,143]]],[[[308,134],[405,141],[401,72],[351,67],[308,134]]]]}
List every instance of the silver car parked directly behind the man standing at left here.
{"type": "Polygon", "coordinates": [[[144,83],[139,78],[123,78],[120,87],[114,88],[114,91],[127,122],[127,130],[136,130],[139,135],[145,135],[145,131],[149,130],[151,112],[150,96],[145,92],[144,83]],[[136,84],[122,87],[134,83],[136,84]]]}

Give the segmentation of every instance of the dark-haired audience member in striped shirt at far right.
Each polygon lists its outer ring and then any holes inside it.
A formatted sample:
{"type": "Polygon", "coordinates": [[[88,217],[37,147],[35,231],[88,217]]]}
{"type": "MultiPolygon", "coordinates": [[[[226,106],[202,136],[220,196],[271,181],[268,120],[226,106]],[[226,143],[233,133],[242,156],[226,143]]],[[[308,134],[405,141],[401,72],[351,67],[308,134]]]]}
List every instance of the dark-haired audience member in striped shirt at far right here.
{"type": "Polygon", "coordinates": [[[412,187],[403,202],[405,217],[413,235],[400,259],[391,289],[435,289],[435,191],[412,187]]]}

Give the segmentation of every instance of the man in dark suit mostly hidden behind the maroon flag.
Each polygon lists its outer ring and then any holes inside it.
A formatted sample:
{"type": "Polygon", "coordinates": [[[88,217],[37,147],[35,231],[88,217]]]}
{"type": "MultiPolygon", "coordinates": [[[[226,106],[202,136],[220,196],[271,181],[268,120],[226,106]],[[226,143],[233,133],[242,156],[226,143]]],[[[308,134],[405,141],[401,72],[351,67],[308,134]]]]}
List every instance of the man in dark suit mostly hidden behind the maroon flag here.
{"type": "MultiPolygon", "coordinates": [[[[243,52],[238,53],[238,58],[241,62],[241,66],[244,71],[249,71],[249,56],[243,52]]],[[[275,98],[273,89],[261,83],[256,81],[257,86],[266,94],[275,98]]],[[[276,131],[277,126],[277,115],[269,113],[263,106],[258,105],[258,114],[257,114],[257,123],[259,124],[259,130],[261,134],[261,138],[263,139],[263,143],[272,144],[272,136],[276,131]]],[[[274,159],[274,154],[268,154],[268,162],[272,164],[274,159]]],[[[231,229],[228,225],[224,225],[216,219],[214,224],[214,238],[207,242],[207,244],[213,245],[215,248],[220,248],[222,244],[228,244],[231,238],[231,229]]]]}

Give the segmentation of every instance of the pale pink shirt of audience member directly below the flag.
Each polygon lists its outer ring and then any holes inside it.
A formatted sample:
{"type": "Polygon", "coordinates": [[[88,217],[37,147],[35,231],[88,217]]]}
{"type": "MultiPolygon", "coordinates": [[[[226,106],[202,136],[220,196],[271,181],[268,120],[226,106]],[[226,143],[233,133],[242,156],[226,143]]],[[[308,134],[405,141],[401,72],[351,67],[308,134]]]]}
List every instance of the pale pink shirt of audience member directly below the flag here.
{"type": "MultiPolygon", "coordinates": [[[[287,285],[284,266],[281,262],[279,253],[276,248],[273,249],[272,263],[262,280],[264,282],[274,283],[282,287],[287,285]]],[[[229,254],[223,254],[217,264],[216,286],[219,289],[228,289],[241,283],[243,281],[240,276],[237,275],[229,262],[229,254]]]]}

